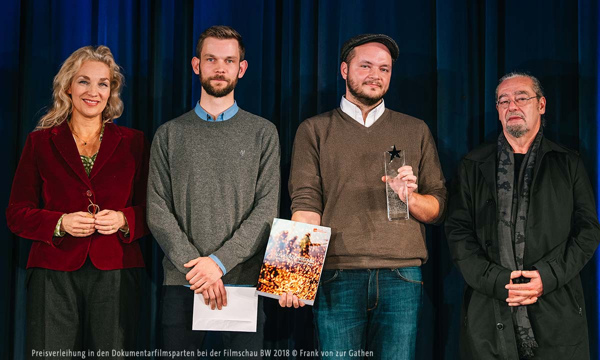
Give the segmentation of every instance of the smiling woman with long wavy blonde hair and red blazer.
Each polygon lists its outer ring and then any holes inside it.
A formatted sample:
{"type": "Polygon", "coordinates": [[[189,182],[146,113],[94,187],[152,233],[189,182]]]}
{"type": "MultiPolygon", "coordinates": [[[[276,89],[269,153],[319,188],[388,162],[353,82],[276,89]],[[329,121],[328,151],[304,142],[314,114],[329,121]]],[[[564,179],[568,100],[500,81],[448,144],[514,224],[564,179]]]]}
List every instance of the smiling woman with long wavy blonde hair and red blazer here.
{"type": "Polygon", "coordinates": [[[28,357],[135,346],[149,146],[141,131],[112,122],[123,112],[123,79],[108,47],[77,49],[25,142],[7,223],[33,241],[28,357]]]}

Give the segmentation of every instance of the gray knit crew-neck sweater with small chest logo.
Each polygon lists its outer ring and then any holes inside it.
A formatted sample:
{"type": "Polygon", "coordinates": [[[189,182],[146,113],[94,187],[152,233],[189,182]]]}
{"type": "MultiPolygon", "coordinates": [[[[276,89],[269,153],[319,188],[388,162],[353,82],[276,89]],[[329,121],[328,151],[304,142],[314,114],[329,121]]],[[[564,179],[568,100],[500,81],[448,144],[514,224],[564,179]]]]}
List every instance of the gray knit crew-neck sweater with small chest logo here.
{"type": "Polygon", "coordinates": [[[280,196],[277,129],[238,110],[209,122],[192,110],[158,128],[148,226],[163,248],[165,285],[188,285],[184,263],[214,254],[226,284],[256,284],[280,196]]]}

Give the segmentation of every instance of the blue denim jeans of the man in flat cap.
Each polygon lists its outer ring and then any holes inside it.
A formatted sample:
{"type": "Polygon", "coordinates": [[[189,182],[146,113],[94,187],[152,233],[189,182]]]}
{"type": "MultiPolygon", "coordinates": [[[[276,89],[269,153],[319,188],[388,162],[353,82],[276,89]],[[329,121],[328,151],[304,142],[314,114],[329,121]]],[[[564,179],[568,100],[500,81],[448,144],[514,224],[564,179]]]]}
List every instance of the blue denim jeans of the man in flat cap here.
{"type": "Polygon", "coordinates": [[[421,268],[323,270],[313,315],[322,359],[415,358],[421,268]]]}

